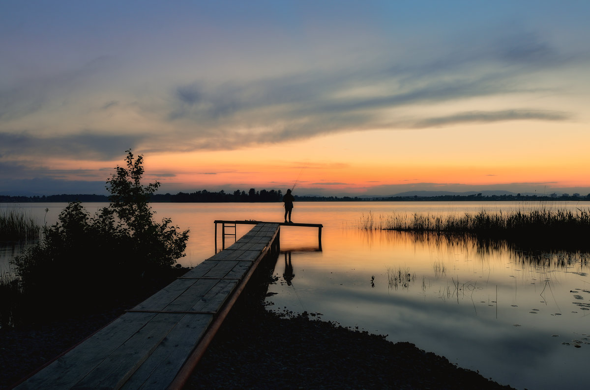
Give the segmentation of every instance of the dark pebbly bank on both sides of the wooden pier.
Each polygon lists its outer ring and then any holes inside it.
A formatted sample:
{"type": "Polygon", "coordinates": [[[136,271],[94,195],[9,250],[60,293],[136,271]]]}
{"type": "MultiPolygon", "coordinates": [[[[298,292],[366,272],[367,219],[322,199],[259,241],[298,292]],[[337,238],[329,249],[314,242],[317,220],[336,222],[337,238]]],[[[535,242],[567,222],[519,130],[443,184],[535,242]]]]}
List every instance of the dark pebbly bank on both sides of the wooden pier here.
{"type": "MultiPolygon", "coordinates": [[[[263,305],[268,281],[268,273],[251,280],[186,388],[508,388],[411,343],[394,344],[314,315],[268,312],[263,305]]],[[[100,313],[0,330],[0,388],[9,388],[151,293],[143,291],[100,313]]]]}

